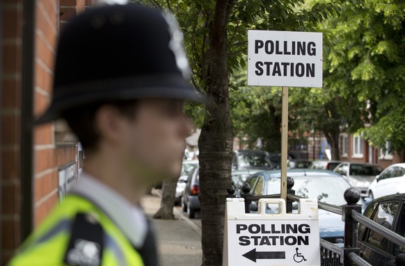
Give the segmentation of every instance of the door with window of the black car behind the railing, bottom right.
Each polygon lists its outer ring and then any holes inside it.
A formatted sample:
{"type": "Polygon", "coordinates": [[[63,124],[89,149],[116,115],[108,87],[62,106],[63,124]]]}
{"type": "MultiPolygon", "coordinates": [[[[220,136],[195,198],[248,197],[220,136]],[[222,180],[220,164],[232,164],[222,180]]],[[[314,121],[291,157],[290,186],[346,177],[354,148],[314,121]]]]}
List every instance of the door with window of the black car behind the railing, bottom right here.
{"type": "MultiPolygon", "coordinates": [[[[371,208],[367,208],[364,215],[396,232],[399,222],[403,222],[401,220],[403,218],[399,215],[403,213],[403,206],[404,204],[399,200],[376,201],[373,206],[370,206],[371,208]]],[[[400,230],[403,231],[404,228],[400,228],[400,230]]],[[[400,252],[399,247],[394,243],[363,225],[359,228],[358,246],[360,256],[376,266],[395,266],[395,250],[397,253],[400,252]]]]}

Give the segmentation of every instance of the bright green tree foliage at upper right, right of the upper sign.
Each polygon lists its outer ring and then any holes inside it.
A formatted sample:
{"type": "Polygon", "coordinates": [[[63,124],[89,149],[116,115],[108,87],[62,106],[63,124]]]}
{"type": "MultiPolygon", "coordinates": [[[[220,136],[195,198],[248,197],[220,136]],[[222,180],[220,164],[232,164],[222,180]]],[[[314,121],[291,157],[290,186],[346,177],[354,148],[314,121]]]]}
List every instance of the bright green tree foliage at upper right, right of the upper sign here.
{"type": "Polygon", "coordinates": [[[376,147],[389,141],[391,151],[404,151],[404,1],[347,2],[326,26],[340,42],[326,59],[325,83],[350,97],[351,111],[342,113],[349,131],[363,132],[376,147]]]}

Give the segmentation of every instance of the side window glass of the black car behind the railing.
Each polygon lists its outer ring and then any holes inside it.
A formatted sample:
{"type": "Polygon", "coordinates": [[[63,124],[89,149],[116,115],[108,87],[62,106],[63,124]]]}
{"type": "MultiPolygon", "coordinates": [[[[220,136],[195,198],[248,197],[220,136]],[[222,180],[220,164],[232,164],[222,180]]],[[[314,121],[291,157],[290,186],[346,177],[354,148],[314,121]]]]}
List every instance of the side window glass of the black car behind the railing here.
{"type": "MultiPolygon", "coordinates": [[[[382,226],[392,230],[392,224],[395,220],[395,217],[398,212],[399,202],[383,202],[378,206],[378,210],[374,213],[372,220],[382,226]]],[[[375,231],[370,230],[370,233],[367,238],[367,242],[372,244],[383,251],[390,253],[389,247],[390,242],[383,237],[383,235],[376,233],[375,231]]]]}

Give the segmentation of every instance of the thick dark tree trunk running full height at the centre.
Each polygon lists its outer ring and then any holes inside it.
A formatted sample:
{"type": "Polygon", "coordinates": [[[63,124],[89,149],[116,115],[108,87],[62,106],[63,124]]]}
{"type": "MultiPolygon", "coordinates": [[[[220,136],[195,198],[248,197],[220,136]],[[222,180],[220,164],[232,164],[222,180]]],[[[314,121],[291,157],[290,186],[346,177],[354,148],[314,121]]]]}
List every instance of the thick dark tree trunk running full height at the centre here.
{"type": "Polygon", "coordinates": [[[201,128],[200,204],[202,219],[202,266],[221,266],[226,189],[230,185],[232,163],[232,122],[228,106],[228,12],[232,0],[216,1],[209,33],[207,106],[201,128]]]}

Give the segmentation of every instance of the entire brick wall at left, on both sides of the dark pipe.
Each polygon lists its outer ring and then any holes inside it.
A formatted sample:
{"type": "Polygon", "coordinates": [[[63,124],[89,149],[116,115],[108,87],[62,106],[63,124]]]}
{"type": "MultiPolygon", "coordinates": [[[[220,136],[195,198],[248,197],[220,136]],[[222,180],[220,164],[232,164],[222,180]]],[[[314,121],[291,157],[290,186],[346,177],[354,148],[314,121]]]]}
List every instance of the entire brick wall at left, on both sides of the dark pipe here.
{"type": "MultiPolygon", "coordinates": [[[[6,265],[21,244],[20,166],[22,160],[22,21],[23,0],[2,0],[1,30],[1,253],[0,265],[6,265]]],[[[35,0],[35,53],[33,115],[49,105],[52,92],[56,40],[63,24],[92,5],[90,0],[35,0]]],[[[25,158],[24,158],[25,159],[25,158]]],[[[77,163],[77,143],[58,142],[55,124],[33,130],[33,225],[38,226],[58,202],[58,171],[77,163]]]]}

